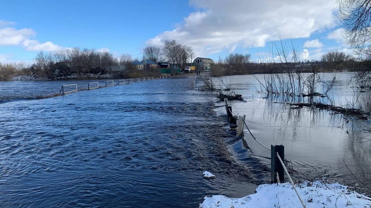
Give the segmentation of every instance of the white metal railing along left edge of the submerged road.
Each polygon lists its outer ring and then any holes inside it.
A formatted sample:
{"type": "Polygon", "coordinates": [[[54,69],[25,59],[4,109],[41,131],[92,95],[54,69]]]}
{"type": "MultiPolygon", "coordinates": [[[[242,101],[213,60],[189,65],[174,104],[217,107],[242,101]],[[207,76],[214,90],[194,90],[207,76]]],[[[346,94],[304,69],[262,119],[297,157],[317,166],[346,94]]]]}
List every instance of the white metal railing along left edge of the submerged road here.
{"type": "MultiPolygon", "coordinates": [[[[167,76],[163,76],[160,78],[167,78],[167,76]]],[[[81,84],[65,84],[62,85],[60,88],[59,94],[64,95],[67,93],[77,93],[78,91],[82,90],[93,90],[99,89],[102,87],[112,87],[115,85],[122,85],[122,84],[129,84],[141,81],[148,81],[154,80],[155,77],[141,77],[141,78],[132,78],[132,79],[124,79],[124,80],[108,80],[108,81],[97,81],[97,82],[89,82],[89,83],[81,83],[81,84]]]]}

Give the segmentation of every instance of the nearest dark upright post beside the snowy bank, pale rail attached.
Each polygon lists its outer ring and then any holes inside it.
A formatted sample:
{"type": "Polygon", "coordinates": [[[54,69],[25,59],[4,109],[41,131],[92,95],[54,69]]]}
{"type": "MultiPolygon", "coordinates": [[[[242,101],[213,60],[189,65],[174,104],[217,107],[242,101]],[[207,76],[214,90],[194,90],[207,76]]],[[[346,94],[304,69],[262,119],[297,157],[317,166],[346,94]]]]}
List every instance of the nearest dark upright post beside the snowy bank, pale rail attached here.
{"type": "Polygon", "coordinates": [[[279,177],[279,182],[285,182],[285,172],[283,166],[279,159],[277,158],[277,154],[280,156],[282,161],[285,161],[285,146],[283,145],[270,145],[270,181],[272,184],[277,183],[277,173],[279,177]]]}

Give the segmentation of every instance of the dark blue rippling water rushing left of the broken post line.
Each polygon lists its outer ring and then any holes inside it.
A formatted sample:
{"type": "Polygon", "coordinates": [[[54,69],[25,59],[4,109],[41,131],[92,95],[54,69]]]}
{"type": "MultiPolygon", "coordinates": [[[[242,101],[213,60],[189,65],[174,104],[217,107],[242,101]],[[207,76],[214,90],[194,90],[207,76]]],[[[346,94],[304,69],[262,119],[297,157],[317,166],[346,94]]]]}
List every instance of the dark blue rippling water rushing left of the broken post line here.
{"type": "MultiPolygon", "coordinates": [[[[24,87],[6,86],[37,86],[32,94],[45,95],[61,83],[0,85],[2,96],[22,97],[24,87]]],[[[226,133],[214,96],[194,85],[193,78],[151,80],[4,101],[1,206],[197,207],[207,195],[251,194],[251,183],[269,172],[233,160],[228,148],[240,140],[226,133]],[[217,178],[203,179],[206,170],[217,178]]]]}

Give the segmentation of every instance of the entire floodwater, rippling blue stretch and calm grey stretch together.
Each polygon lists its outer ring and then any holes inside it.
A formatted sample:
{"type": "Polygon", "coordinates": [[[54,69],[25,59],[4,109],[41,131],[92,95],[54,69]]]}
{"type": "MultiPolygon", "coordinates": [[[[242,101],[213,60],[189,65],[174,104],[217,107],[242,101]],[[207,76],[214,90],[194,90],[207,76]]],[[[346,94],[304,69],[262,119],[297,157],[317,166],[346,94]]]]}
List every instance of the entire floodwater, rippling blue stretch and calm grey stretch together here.
{"type": "MultiPolygon", "coordinates": [[[[346,76],[331,93],[339,103],[352,95],[346,76]]],[[[345,158],[370,180],[371,142],[361,131],[368,121],[273,103],[251,75],[222,79],[246,98],[233,111],[246,114],[260,142],[285,145],[294,175],[340,168],[335,174],[353,180],[345,158]]],[[[197,207],[204,196],[242,197],[270,180],[270,152],[248,132],[244,141],[228,134],[223,103],[197,91],[193,77],[37,99],[62,84],[75,82],[0,82],[4,207],[197,207]],[[204,171],[217,178],[203,179],[204,171]]],[[[359,107],[369,106],[367,96],[359,107]]]]}

